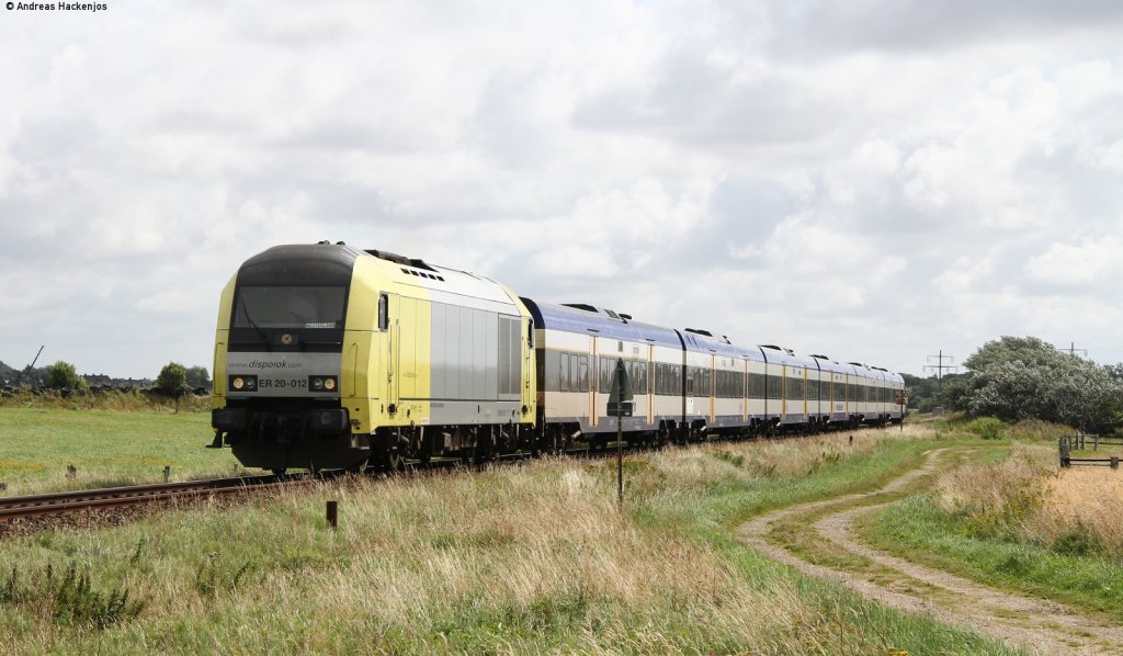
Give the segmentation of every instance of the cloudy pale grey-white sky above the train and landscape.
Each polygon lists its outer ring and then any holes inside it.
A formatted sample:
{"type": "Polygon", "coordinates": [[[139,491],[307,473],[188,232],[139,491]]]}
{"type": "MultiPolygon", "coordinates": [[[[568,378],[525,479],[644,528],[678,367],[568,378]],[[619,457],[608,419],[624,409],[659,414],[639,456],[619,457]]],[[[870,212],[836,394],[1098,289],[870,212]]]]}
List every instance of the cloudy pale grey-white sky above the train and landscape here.
{"type": "Polygon", "coordinates": [[[240,263],[322,239],[904,373],[1123,361],[1117,0],[101,4],[0,8],[9,365],[210,368],[240,263]]]}

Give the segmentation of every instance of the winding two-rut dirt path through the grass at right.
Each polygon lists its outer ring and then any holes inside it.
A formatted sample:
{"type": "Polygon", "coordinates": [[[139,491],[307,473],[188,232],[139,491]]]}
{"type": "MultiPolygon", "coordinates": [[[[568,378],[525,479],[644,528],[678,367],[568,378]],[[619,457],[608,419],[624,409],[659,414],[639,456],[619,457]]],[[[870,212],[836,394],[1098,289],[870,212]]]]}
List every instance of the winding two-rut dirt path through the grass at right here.
{"type": "Polygon", "coordinates": [[[861,574],[809,563],[766,539],[769,529],[777,521],[818,513],[832,505],[868,502],[873,498],[901,491],[916,479],[932,473],[937,461],[946,450],[929,452],[923,466],[894,480],[882,490],[848,494],[772,512],[741,526],[738,530],[739,537],[770,558],[807,574],[838,581],[887,607],[923,613],[950,625],[967,626],[1031,653],[1123,654],[1121,627],[1081,617],[1067,607],[1048,600],[1002,592],[859,544],[852,532],[853,518],[860,513],[873,512],[889,503],[889,500],[879,504],[846,508],[819,519],[813,525],[816,531],[838,547],[868,558],[901,576],[901,581],[888,585],[874,583],[861,574]],[[910,581],[920,585],[910,584],[910,581]]]}

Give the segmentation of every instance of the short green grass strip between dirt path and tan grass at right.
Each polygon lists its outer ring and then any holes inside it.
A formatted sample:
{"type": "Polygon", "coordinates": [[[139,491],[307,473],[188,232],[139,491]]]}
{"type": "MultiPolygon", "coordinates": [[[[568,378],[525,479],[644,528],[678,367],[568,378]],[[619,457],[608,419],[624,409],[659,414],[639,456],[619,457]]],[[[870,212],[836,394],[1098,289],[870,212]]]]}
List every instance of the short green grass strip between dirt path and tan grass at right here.
{"type": "Polygon", "coordinates": [[[912,561],[1123,621],[1119,559],[1062,555],[1038,545],[978,536],[926,494],[889,505],[857,526],[870,544],[912,561]]]}

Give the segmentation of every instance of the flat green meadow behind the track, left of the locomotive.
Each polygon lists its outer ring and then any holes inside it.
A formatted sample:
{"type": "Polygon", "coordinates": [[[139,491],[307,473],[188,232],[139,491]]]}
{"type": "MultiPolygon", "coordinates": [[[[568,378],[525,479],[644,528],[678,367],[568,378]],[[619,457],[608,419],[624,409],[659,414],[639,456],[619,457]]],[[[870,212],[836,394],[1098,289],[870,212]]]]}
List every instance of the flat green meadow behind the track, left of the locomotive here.
{"type": "Polygon", "coordinates": [[[202,412],[0,408],[0,494],[161,481],[165,466],[173,480],[241,471],[229,449],[204,448],[212,437],[202,412]]]}

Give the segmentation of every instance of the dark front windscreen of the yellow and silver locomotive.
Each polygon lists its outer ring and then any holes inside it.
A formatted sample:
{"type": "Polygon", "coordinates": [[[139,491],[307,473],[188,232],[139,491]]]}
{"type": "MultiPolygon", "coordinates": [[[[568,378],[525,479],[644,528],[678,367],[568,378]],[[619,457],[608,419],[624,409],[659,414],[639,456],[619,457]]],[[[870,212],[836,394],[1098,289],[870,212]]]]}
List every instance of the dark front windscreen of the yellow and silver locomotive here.
{"type": "Polygon", "coordinates": [[[347,290],[341,286],[240,286],[235,328],[340,328],[347,290]]]}

